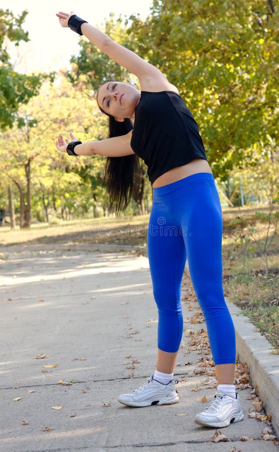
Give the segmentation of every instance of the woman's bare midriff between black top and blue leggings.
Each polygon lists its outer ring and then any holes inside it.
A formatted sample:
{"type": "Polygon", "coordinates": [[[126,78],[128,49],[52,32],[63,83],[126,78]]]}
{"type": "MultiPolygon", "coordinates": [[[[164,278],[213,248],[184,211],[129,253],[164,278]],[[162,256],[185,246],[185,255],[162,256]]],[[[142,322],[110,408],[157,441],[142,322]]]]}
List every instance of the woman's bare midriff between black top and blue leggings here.
{"type": "Polygon", "coordinates": [[[162,187],[163,185],[171,184],[177,180],[184,179],[185,177],[191,176],[197,173],[210,173],[212,174],[209,163],[205,159],[195,159],[192,162],[187,163],[187,165],[178,166],[172,168],[170,171],[159,176],[154,182],[153,187],[162,187]]]}

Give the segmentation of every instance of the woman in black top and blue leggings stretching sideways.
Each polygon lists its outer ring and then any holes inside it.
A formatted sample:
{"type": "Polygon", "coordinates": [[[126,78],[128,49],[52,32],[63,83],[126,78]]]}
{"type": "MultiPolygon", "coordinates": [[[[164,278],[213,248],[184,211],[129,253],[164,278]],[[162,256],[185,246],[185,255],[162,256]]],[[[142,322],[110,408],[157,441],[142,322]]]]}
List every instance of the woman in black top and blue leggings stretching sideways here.
{"type": "Polygon", "coordinates": [[[59,12],[57,16],[62,27],[85,35],[136,75],[141,85],[139,92],[129,83],[110,81],[97,93],[99,107],[109,116],[110,131],[123,126],[122,135],[83,144],[73,134],[71,142],[59,135],[56,142],[57,149],[69,155],[108,157],[108,191],[118,211],[130,199],[136,156],[147,164],[153,186],[148,256],[159,312],[158,362],[151,380],[118,400],[137,407],[179,401],[173,369],[183,332],[180,293],[187,257],[218,380],[213,401],[196,415],[195,422],[219,428],[240,421],[243,413],[234,386],[235,332],[222,288],[221,207],[198,126],[178,89],[159,69],[74,13],[59,12]],[[130,119],[134,119],[132,130],[130,119]],[[118,160],[128,166],[121,163],[115,176],[113,165],[118,160]]]}

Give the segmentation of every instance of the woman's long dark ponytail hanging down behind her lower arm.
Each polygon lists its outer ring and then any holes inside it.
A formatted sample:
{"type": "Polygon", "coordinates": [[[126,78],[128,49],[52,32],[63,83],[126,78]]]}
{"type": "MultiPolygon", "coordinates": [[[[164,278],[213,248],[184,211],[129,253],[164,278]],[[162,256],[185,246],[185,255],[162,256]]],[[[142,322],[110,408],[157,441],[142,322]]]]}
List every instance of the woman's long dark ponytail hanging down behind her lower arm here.
{"type": "MultiPolygon", "coordinates": [[[[108,115],[98,104],[100,110],[108,116],[109,138],[126,135],[133,128],[130,119],[123,122],[116,121],[108,115]]],[[[104,167],[104,185],[109,196],[108,210],[118,215],[130,203],[133,184],[138,180],[140,173],[138,157],[134,154],[124,157],[107,157],[104,167]]]]}

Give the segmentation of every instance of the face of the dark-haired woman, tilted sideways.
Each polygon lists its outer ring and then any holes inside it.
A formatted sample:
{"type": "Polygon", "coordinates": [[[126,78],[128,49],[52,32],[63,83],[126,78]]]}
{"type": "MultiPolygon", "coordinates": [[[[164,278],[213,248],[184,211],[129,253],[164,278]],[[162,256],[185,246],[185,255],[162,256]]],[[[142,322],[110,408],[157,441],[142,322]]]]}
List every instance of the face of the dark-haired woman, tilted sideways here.
{"type": "Polygon", "coordinates": [[[118,81],[105,83],[97,94],[98,105],[118,121],[134,117],[140,98],[141,93],[134,85],[118,81]]]}

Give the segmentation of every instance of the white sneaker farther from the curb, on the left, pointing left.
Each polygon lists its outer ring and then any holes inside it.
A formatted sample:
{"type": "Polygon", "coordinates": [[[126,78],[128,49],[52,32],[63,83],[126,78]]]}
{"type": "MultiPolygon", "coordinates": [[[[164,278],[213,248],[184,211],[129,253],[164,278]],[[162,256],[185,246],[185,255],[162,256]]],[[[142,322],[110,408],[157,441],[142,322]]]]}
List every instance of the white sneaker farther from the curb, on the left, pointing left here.
{"type": "Polygon", "coordinates": [[[118,401],[127,406],[151,406],[151,405],[171,405],[178,403],[179,397],[175,389],[177,380],[172,380],[167,385],[153,380],[151,375],[148,382],[131,394],[122,394],[118,401]]]}

